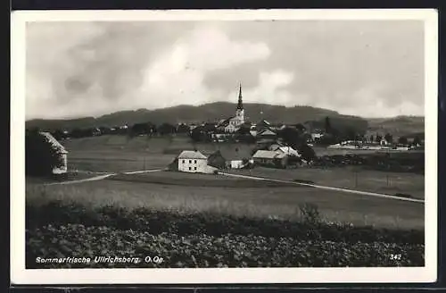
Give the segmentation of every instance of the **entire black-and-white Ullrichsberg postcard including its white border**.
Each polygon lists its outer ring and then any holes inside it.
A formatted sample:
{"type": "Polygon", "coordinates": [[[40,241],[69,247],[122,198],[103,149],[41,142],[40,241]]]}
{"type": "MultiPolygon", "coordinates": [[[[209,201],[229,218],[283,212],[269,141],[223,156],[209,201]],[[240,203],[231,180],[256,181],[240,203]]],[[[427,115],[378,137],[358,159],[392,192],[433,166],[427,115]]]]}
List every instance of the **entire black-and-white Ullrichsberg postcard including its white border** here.
{"type": "Polygon", "coordinates": [[[434,10],[12,13],[12,281],[436,280],[437,54],[434,10]]]}

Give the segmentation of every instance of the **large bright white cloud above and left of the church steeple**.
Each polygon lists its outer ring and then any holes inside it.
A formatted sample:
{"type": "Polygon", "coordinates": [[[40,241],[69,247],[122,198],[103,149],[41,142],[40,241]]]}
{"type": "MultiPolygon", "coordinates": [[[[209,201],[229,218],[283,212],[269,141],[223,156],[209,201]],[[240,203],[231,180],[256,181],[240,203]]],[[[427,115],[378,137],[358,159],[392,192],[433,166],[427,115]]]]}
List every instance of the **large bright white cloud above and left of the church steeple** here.
{"type": "Polygon", "coordinates": [[[209,71],[267,59],[269,54],[264,43],[236,42],[219,29],[194,29],[148,66],[134,98],[139,107],[151,108],[208,103],[222,95],[203,83],[209,71]]]}

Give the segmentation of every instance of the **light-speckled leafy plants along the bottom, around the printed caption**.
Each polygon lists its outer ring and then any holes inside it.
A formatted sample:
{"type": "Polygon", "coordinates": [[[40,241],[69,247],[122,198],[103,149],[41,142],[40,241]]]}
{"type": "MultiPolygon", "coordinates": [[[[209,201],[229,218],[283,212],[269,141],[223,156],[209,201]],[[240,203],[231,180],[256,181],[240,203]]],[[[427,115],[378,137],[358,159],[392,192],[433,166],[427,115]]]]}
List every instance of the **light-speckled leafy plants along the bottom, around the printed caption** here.
{"type": "Polygon", "coordinates": [[[147,231],[46,225],[27,230],[27,268],[68,267],[340,267],[423,266],[424,246],[266,238],[254,235],[153,235],[147,231]],[[401,255],[393,260],[391,255],[401,255]],[[95,256],[137,257],[95,263],[95,256]],[[145,262],[150,256],[152,262],[145,262]],[[89,257],[87,264],[37,263],[37,257],[89,257]],[[161,261],[162,259],[162,261],[161,261]]]}

